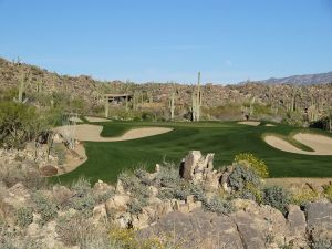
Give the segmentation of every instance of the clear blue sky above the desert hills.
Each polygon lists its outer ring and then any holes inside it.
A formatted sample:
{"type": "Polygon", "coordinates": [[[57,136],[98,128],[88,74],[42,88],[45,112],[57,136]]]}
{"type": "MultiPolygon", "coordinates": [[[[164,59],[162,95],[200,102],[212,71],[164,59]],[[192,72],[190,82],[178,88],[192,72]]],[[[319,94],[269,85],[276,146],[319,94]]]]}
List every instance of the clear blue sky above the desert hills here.
{"type": "Polygon", "coordinates": [[[0,56],[100,80],[332,71],[332,0],[0,0],[0,56]]]}

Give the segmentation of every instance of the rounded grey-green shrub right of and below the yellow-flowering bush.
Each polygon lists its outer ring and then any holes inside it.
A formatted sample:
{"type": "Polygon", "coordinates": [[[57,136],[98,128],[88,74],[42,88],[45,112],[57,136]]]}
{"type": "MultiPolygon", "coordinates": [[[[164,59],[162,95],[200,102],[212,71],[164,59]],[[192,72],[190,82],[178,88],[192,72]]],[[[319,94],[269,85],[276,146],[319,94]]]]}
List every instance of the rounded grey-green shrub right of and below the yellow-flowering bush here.
{"type": "Polygon", "coordinates": [[[287,206],[290,204],[290,195],[280,186],[266,187],[263,189],[262,201],[286,215],[287,206]]]}

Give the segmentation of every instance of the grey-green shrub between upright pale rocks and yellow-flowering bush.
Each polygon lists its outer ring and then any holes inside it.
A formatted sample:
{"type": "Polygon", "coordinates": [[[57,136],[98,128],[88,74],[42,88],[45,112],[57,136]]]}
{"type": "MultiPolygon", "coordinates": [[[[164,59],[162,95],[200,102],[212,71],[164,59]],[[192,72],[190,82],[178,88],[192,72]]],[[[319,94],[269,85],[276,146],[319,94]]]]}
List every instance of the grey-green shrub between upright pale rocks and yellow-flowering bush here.
{"type": "Polygon", "coordinates": [[[259,187],[261,179],[251,168],[242,165],[235,165],[234,170],[228,177],[228,185],[236,191],[241,191],[246,184],[259,187]]]}

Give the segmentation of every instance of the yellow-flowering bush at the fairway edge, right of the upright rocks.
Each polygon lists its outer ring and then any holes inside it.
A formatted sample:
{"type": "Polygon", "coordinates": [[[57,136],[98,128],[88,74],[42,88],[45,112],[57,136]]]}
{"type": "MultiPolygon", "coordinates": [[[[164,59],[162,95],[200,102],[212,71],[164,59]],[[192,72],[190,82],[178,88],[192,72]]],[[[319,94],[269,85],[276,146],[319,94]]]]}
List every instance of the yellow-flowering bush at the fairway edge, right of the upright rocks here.
{"type": "Polygon", "coordinates": [[[251,153],[240,153],[236,155],[234,162],[236,164],[245,164],[253,168],[258,176],[262,178],[269,177],[269,169],[262,159],[259,159],[251,153]]]}

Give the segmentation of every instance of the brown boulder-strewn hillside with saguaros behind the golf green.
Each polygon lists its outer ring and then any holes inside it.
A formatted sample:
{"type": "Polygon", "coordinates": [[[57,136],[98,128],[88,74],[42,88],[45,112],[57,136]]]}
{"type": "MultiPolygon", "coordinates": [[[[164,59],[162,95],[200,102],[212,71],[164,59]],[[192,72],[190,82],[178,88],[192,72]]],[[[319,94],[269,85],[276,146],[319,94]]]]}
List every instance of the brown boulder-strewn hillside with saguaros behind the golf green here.
{"type": "MultiPolygon", "coordinates": [[[[326,83],[332,73],[294,76],[293,80],[300,82],[307,79],[307,83],[326,83]],[[298,79],[298,80],[297,80],[298,79]]],[[[4,59],[0,59],[0,91],[9,89],[18,89],[20,81],[25,82],[27,94],[33,101],[35,95],[44,95],[44,102],[50,103],[58,93],[58,96],[66,96],[68,98],[79,98],[84,102],[85,112],[94,112],[94,107],[103,108],[103,94],[105,93],[137,93],[139,98],[139,108],[153,108],[154,112],[167,112],[169,98],[175,92],[175,106],[177,115],[183,116],[188,113],[191,107],[193,85],[172,84],[172,83],[145,83],[135,84],[133,82],[100,82],[91,76],[68,76],[59,75],[54,72],[40,69],[34,65],[24,63],[13,63],[4,59]]],[[[273,80],[274,81],[274,80],[273,80]]],[[[282,80],[279,83],[291,82],[282,80]]],[[[270,83],[272,81],[267,81],[270,83]]],[[[277,80],[276,80],[277,82],[277,80]]],[[[332,84],[313,84],[293,86],[291,84],[260,84],[246,83],[238,85],[218,85],[203,84],[201,86],[201,106],[207,110],[206,115],[211,116],[208,112],[210,108],[218,106],[248,105],[255,102],[262,105],[269,105],[272,110],[298,110],[304,113],[310,106],[317,110],[315,113],[322,114],[324,110],[332,106],[332,84]],[[294,103],[295,102],[295,103],[294,103]]],[[[38,98],[38,97],[37,97],[38,98]]],[[[240,110],[240,108],[239,108],[240,110]]],[[[92,113],[94,114],[94,113],[92,113]]],[[[240,111],[235,117],[241,118],[240,111]]]]}

